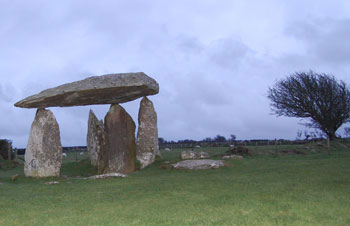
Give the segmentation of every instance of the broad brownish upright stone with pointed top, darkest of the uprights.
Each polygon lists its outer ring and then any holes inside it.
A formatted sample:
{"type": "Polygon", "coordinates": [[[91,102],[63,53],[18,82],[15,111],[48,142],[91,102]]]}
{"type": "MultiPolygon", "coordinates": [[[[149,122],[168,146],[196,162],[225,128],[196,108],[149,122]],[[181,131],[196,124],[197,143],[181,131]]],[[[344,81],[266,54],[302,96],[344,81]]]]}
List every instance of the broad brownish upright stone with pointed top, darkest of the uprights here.
{"type": "MultiPolygon", "coordinates": [[[[104,122],[106,163],[103,173],[131,173],[135,171],[135,123],[119,104],[111,105],[104,122]]],[[[101,173],[100,172],[100,173],[101,173]]]]}

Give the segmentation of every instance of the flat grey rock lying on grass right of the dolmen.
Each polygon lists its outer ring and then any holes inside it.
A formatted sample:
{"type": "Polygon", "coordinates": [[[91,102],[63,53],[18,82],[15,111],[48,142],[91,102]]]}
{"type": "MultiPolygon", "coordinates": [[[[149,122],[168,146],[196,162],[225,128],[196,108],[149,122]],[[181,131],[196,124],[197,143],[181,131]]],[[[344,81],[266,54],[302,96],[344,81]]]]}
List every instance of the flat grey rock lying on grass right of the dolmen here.
{"type": "Polygon", "coordinates": [[[175,169],[189,169],[189,170],[201,170],[201,169],[215,169],[224,166],[222,160],[211,160],[211,159],[202,159],[202,160],[185,160],[173,164],[175,169]]]}

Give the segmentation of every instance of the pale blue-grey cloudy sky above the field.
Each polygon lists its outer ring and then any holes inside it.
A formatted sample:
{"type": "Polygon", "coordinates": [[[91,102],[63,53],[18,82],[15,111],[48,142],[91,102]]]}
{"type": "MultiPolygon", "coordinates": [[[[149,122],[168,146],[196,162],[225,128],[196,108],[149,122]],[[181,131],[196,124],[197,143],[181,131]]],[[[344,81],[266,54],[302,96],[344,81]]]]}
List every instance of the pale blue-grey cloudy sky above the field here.
{"type": "MultiPolygon", "coordinates": [[[[0,0],[0,139],[25,147],[36,109],[14,103],[90,76],[145,72],[166,140],[295,139],[267,90],[314,70],[350,84],[347,0],[0,0]]],[[[140,99],[122,104],[137,124],[140,99]]],[[[63,146],[86,145],[89,109],[49,108],[63,146]]],[[[338,132],[342,132],[339,130],[338,132]]]]}

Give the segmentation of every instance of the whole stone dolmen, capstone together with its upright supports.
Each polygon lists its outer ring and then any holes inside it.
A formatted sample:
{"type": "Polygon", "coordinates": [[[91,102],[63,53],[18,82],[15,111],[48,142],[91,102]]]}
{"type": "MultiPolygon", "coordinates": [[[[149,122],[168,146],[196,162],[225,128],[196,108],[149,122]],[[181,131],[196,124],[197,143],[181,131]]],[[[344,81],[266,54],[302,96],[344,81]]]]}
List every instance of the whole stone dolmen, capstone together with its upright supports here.
{"type": "Polygon", "coordinates": [[[44,90],[15,104],[37,108],[25,152],[28,177],[59,176],[62,145],[59,125],[48,107],[110,104],[104,121],[89,112],[87,149],[99,174],[128,174],[160,157],[157,113],[147,96],[159,92],[158,83],[143,72],[108,74],[86,78],[44,90]],[[121,103],[143,97],[136,124],[121,103]]]}

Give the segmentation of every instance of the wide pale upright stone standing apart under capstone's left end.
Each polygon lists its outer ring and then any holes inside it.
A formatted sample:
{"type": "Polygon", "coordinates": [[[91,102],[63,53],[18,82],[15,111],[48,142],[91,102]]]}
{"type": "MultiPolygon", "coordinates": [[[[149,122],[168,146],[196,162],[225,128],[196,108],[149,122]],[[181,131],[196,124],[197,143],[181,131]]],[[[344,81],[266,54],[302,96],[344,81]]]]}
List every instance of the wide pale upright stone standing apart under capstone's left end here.
{"type": "Polygon", "coordinates": [[[59,176],[61,164],[62,145],[56,118],[50,110],[38,109],[25,152],[24,174],[27,177],[59,176]]]}

